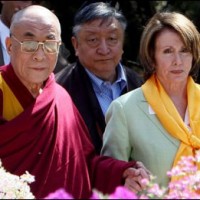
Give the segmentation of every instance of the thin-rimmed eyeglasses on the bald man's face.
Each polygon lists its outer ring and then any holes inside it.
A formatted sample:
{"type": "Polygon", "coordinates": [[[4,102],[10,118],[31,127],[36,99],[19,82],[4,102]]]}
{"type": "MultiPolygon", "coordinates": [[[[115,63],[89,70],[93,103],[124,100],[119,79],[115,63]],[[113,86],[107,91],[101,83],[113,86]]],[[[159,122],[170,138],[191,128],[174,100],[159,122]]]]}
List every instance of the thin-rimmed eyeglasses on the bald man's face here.
{"type": "Polygon", "coordinates": [[[21,45],[21,51],[26,53],[35,53],[38,50],[39,45],[42,45],[42,48],[45,53],[55,54],[58,53],[61,42],[57,40],[46,40],[44,42],[37,42],[32,40],[25,40],[20,42],[14,35],[11,36],[21,45]]]}

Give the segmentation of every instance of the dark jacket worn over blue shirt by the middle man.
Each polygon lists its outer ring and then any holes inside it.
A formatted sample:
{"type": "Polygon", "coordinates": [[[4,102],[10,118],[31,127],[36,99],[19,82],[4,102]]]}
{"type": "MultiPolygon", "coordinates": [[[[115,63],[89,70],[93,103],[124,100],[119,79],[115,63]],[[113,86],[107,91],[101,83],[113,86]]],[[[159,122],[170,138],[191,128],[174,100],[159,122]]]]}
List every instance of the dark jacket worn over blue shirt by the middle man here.
{"type": "MultiPolygon", "coordinates": [[[[122,94],[133,90],[142,84],[140,77],[132,69],[124,67],[128,86],[122,94]]],[[[96,152],[102,147],[102,135],[105,130],[105,117],[84,67],[73,63],[56,74],[56,81],[71,95],[76,107],[81,113],[91,135],[96,152]]]]}

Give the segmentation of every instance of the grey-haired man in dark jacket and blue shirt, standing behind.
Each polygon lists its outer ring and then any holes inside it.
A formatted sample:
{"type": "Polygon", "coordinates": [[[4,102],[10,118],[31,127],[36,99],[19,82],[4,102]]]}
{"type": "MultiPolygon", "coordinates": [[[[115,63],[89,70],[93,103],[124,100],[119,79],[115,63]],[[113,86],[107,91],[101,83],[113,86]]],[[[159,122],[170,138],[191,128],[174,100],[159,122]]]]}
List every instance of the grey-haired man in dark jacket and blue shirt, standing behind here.
{"type": "Polygon", "coordinates": [[[120,62],[126,26],[124,15],[107,3],[79,9],[72,36],[77,62],[56,74],[85,120],[97,153],[110,103],[142,84],[136,72],[120,62]]]}

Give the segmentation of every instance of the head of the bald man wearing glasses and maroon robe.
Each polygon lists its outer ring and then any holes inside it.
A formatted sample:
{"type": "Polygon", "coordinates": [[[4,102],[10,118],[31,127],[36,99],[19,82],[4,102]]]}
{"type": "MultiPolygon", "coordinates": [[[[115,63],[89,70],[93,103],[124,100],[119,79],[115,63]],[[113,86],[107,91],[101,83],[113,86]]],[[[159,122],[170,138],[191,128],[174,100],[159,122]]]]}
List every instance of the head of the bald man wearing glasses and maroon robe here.
{"type": "Polygon", "coordinates": [[[57,62],[61,43],[58,18],[43,6],[31,5],[13,15],[10,31],[6,46],[15,74],[28,89],[35,84],[40,87],[57,62]]]}

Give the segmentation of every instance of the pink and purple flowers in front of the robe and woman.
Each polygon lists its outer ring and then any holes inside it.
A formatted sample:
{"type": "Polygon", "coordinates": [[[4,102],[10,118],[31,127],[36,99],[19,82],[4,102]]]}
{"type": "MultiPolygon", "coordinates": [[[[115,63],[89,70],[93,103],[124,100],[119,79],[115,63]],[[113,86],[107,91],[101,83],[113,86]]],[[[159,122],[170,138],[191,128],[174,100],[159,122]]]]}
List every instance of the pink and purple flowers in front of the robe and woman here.
{"type": "MultiPolygon", "coordinates": [[[[200,151],[195,156],[182,157],[177,166],[167,173],[169,177],[176,177],[177,180],[170,182],[168,187],[160,187],[156,177],[150,180],[143,180],[145,190],[138,194],[131,192],[123,186],[116,188],[113,194],[102,194],[93,190],[90,199],[200,199],[200,151]]],[[[48,195],[46,199],[73,199],[71,195],[60,189],[48,195]]]]}

